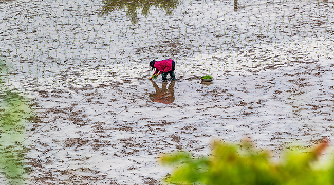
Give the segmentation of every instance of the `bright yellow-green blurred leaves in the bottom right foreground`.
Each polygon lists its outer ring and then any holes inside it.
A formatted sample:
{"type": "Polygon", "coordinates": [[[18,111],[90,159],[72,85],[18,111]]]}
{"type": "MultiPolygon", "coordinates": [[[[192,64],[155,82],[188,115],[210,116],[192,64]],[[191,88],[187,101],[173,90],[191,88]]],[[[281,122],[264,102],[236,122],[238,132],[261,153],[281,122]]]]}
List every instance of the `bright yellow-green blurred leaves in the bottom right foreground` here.
{"type": "Polygon", "coordinates": [[[334,165],[322,169],[312,165],[327,147],[327,141],[307,152],[289,151],[279,162],[271,162],[269,152],[256,151],[249,141],[240,146],[221,141],[212,145],[210,156],[194,158],[188,152],[161,156],[161,164],[177,165],[164,181],[210,185],[334,184],[334,165]]]}

